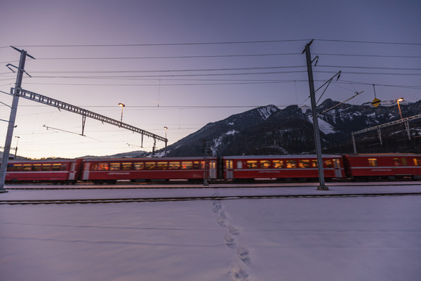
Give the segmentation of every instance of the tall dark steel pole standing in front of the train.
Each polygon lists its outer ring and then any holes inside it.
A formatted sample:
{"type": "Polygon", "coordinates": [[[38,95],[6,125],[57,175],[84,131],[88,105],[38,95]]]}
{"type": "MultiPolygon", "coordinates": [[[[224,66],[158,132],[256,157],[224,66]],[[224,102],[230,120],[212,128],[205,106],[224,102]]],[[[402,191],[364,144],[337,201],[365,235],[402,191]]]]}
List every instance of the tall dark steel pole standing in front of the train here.
{"type": "Polygon", "coordinates": [[[319,169],[319,186],[317,187],[317,190],[329,190],[329,188],[325,185],[325,179],[324,179],[324,173],[323,173],[323,158],[321,157],[319,122],[317,120],[316,93],[314,91],[314,79],[313,79],[313,69],[312,69],[312,55],[310,53],[311,44],[312,44],[312,41],[309,44],[305,45],[305,55],[307,58],[307,73],[309,76],[310,100],[312,102],[314,142],[316,144],[317,167],[319,169]]]}

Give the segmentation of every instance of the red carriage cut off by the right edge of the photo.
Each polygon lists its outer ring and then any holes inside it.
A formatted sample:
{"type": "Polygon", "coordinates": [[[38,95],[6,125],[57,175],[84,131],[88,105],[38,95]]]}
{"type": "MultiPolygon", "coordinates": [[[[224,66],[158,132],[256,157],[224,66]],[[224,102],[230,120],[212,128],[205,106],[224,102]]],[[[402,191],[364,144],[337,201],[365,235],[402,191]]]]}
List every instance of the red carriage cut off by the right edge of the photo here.
{"type": "Polygon", "coordinates": [[[355,154],[343,155],[347,176],[358,178],[421,178],[421,155],[355,154]]]}

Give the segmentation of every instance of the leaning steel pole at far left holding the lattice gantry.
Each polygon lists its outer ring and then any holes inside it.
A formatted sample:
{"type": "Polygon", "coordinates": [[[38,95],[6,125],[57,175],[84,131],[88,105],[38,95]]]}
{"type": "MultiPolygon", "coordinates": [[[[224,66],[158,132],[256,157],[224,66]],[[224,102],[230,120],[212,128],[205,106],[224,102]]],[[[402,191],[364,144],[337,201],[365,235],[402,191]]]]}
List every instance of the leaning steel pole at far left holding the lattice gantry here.
{"type": "Polygon", "coordinates": [[[4,182],[6,181],[6,171],[7,171],[8,157],[9,157],[9,153],[11,151],[13,129],[15,128],[16,112],[18,111],[19,92],[20,92],[20,88],[22,86],[23,73],[25,72],[26,55],[27,55],[26,51],[24,51],[24,50],[20,51],[20,61],[19,61],[18,74],[17,74],[17,77],[16,77],[15,91],[13,93],[11,115],[10,115],[9,121],[8,121],[6,141],[4,143],[4,150],[3,150],[3,159],[1,160],[1,166],[0,166],[0,192],[4,192],[4,190],[5,190],[4,189],[4,182]]]}

